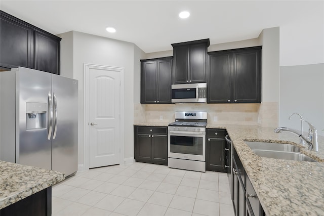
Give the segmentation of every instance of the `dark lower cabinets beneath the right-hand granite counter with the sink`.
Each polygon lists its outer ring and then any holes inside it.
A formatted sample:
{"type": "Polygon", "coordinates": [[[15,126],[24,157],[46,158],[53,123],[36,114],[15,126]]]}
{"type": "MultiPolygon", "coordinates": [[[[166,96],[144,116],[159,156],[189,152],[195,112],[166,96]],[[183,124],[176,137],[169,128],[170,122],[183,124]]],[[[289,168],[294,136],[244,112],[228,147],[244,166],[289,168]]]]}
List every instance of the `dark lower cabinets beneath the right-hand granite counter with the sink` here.
{"type": "Polygon", "coordinates": [[[231,198],[235,216],[265,216],[248,175],[232,146],[231,198]]]}

